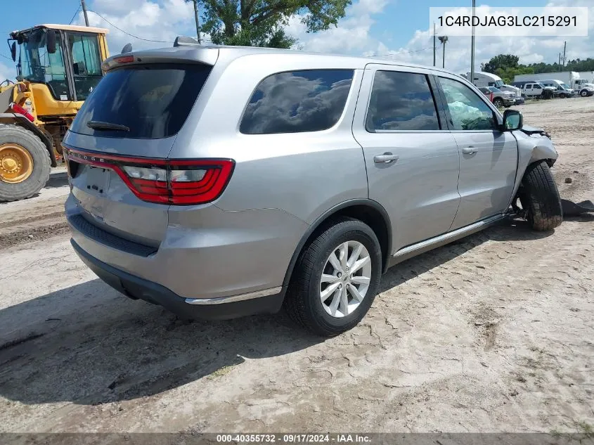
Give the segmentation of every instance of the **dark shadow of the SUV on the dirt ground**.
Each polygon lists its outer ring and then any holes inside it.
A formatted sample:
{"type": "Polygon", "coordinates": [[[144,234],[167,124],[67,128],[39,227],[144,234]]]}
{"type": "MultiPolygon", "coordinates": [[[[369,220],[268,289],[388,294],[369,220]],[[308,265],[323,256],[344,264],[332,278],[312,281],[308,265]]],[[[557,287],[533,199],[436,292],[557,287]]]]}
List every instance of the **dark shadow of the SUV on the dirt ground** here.
{"type": "MultiPolygon", "coordinates": [[[[522,221],[408,260],[380,292],[486,240],[535,240],[522,221]]],[[[118,294],[101,280],[51,292],[0,311],[0,395],[23,404],[101,404],[158,394],[247,359],[290,354],[323,340],[285,314],[186,323],[118,294]]]]}

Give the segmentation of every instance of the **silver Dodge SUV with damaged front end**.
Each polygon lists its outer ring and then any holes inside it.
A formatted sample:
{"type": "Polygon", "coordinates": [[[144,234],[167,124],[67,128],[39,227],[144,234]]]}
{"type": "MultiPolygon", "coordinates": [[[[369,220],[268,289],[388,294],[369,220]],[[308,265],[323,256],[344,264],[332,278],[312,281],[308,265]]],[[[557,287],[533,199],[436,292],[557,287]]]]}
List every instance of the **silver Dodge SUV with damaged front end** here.
{"type": "Polygon", "coordinates": [[[186,318],[337,335],[390,266],[510,209],[562,221],[550,138],[450,72],[181,38],[103,69],[63,141],[72,246],[186,318]]]}

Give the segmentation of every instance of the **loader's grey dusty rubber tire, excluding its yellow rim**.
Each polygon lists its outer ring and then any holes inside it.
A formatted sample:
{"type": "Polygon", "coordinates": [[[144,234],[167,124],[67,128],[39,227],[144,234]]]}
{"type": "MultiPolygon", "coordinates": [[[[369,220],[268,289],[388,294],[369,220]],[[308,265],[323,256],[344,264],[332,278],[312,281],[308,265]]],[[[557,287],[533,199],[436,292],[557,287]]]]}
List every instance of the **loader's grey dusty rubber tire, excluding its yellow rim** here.
{"type": "Polygon", "coordinates": [[[51,160],[48,150],[41,139],[31,131],[18,125],[0,124],[0,147],[9,143],[18,144],[30,153],[33,169],[30,176],[22,182],[10,183],[0,179],[0,201],[31,198],[46,185],[49,179],[51,160]]]}

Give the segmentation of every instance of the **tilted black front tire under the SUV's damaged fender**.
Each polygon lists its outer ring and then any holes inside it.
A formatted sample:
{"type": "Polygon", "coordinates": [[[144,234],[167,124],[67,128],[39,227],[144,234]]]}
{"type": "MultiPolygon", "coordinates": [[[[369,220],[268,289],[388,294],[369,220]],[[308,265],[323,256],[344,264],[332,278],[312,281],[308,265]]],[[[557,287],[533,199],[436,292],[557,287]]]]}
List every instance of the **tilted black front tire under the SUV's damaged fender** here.
{"type": "Polygon", "coordinates": [[[561,198],[553,174],[545,161],[535,162],[524,172],[519,191],[527,220],[536,231],[550,231],[563,221],[561,198]]]}

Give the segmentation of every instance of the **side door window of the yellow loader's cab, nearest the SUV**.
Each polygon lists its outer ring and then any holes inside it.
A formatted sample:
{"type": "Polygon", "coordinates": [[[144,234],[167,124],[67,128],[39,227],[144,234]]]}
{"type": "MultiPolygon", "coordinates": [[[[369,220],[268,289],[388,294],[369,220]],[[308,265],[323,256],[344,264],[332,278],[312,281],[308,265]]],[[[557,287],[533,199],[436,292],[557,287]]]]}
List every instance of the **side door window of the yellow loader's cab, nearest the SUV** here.
{"type": "Polygon", "coordinates": [[[97,36],[68,34],[72,51],[72,71],[75,75],[77,100],[84,101],[101,80],[101,56],[97,36]]]}

